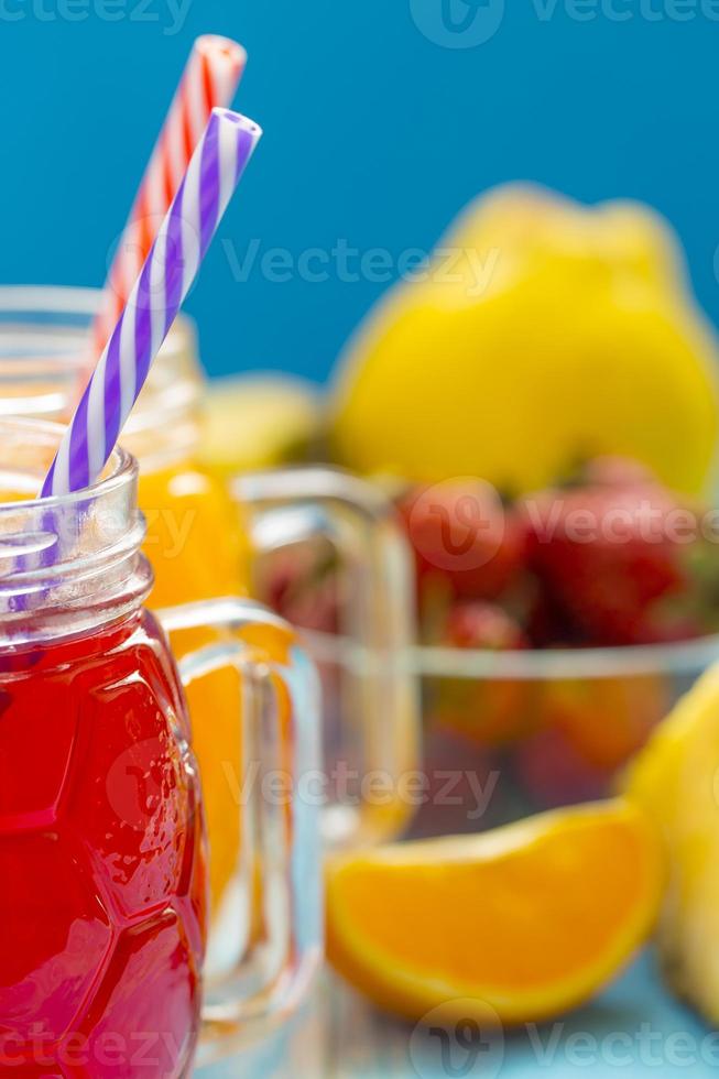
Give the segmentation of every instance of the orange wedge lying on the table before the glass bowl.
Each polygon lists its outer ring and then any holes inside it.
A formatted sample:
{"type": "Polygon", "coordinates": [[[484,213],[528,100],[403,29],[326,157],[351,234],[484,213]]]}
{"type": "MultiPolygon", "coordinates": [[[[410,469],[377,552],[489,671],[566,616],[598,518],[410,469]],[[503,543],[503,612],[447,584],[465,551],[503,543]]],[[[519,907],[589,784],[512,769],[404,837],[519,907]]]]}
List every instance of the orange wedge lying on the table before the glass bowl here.
{"type": "Polygon", "coordinates": [[[591,996],[654,924],[660,841],[624,799],[478,836],[334,858],[328,955],[351,984],[417,1021],[549,1018],[591,996]],[[434,1018],[434,1015],[433,1015],[434,1018]]]}

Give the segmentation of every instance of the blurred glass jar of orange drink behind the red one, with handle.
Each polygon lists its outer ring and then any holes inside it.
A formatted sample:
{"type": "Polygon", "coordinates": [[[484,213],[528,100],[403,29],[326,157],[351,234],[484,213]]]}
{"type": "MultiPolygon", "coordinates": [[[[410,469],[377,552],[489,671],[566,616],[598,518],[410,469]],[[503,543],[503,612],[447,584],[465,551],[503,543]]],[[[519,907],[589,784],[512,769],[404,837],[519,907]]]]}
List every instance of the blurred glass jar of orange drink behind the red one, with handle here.
{"type": "MultiPolygon", "coordinates": [[[[0,410],[67,417],[99,298],[95,290],[0,287],[0,410]]],[[[198,461],[204,386],[195,333],[181,317],[122,433],[122,445],[140,462],[144,551],[155,574],[150,607],[248,595],[260,552],[318,537],[329,544],[346,582],[340,618],[347,647],[317,657],[326,689],[324,770],[316,785],[323,833],[331,844],[390,838],[410,816],[405,786],[417,764],[420,726],[416,680],[399,658],[413,640],[413,586],[393,508],[372,486],[327,468],[244,476],[228,488],[198,461]]],[[[178,655],[210,641],[197,631],[173,634],[178,655]]],[[[230,677],[214,675],[188,693],[216,919],[239,839],[232,809],[241,745],[224,704],[230,677]]]]}

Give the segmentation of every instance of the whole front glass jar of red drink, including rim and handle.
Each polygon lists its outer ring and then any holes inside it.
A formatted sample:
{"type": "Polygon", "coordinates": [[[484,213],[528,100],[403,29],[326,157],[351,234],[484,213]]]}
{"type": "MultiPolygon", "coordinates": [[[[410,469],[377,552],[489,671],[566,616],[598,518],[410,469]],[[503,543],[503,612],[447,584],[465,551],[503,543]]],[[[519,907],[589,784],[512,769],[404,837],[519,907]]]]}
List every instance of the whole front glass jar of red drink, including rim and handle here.
{"type": "Polygon", "coordinates": [[[318,964],[316,813],[293,793],[318,764],[316,678],[291,629],[247,600],[166,612],[166,629],[222,633],[178,672],[143,607],[137,464],[116,450],[96,486],[35,500],[62,433],[0,419],[0,1071],[141,1079],[151,1059],[184,1077],[203,1023],[211,1058],[292,1007],[318,964]],[[235,807],[203,1012],[209,891],[183,684],[220,668],[248,675],[235,715],[257,775],[235,807]]]}

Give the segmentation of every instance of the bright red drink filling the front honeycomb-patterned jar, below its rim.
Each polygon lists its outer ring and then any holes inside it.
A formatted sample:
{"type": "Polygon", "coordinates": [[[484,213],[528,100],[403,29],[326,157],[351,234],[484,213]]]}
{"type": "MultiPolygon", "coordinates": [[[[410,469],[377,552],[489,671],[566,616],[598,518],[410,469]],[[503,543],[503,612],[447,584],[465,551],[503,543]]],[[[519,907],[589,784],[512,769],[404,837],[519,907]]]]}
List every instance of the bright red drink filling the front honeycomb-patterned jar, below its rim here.
{"type": "Polygon", "coordinates": [[[0,655],[9,1071],[174,1076],[190,1058],[206,879],[197,775],[164,649],[152,619],[134,614],[0,655]]]}

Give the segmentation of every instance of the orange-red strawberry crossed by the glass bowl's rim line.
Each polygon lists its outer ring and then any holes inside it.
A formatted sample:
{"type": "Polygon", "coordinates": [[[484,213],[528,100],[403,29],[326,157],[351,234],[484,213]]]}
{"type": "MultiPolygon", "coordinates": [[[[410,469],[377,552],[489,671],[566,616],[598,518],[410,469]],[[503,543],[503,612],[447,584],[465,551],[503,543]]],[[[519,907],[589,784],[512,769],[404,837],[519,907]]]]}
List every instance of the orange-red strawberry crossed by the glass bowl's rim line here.
{"type": "MultiPolygon", "coordinates": [[[[500,607],[480,601],[458,602],[449,612],[440,644],[472,651],[508,652],[527,647],[520,625],[500,607]]],[[[487,674],[437,680],[439,724],[473,743],[498,745],[524,730],[529,685],[487,674]]]]}

